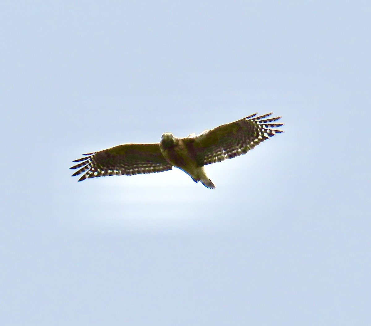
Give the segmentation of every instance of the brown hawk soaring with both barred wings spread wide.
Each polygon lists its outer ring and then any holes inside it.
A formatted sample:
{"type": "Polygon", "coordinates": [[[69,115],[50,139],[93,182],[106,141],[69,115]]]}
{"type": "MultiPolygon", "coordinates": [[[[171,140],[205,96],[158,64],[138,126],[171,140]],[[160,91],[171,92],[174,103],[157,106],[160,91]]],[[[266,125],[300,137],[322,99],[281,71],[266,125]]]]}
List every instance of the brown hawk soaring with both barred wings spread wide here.
{"type": "Polygon", "coordinates": [[[206,176],[204,166],[246,154],[250,149],[282,130],[276,123],[281,117],[271,118],[251,114],[243,119],[222,124],[211,130],[191,134],[185,138],[164,133],[160,143],[123,144],[99,152],[83,154],[80,162],[70,169],[79,169],[72,176],[82,174],[79,181],[102,176],[131,176],[153,173],[178,167],[189,174],[194,182],[200,181],[207,188],[215,188],[206,176]]]}

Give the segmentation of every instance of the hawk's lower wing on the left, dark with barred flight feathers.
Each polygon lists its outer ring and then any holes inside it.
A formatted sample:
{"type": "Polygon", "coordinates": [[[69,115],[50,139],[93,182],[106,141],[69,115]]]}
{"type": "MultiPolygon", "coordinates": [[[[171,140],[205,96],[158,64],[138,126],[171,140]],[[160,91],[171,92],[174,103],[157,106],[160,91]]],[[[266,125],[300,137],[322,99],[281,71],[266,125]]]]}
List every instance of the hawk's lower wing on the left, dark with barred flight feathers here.
{"type": "Polygon", "coordinates": [[[162,156],[159,144],[124,144],[96,153],[83,154],[81,162],[70,169],[79,169],[72,176],[83,174],[79,181],[102,176],[131,176],[133,174],[171,170],[172,165],[162,156]]]}

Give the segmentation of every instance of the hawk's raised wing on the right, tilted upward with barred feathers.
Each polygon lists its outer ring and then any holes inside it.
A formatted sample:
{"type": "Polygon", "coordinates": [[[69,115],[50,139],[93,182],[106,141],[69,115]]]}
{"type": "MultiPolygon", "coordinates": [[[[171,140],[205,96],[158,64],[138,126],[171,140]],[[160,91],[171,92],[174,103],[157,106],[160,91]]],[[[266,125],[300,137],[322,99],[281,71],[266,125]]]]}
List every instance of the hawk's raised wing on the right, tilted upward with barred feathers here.
{"type": "Polygon", "coordinates": [[[197,165],[203,166],[246,154],[269,137],[283,132],[274,129],[283,126],[283,123],[274,123],[281,117],[268,118],[272,113],[256,117],[256,114],[190,138],[197,165]]]}

